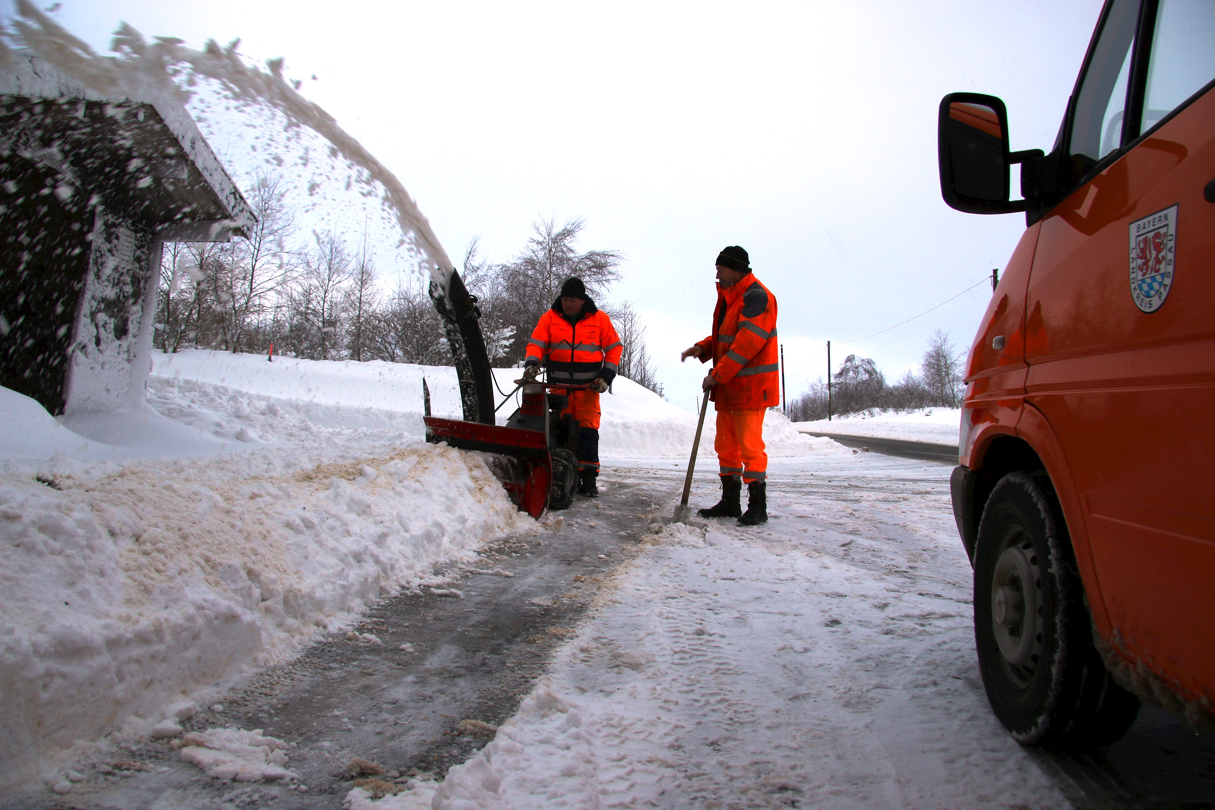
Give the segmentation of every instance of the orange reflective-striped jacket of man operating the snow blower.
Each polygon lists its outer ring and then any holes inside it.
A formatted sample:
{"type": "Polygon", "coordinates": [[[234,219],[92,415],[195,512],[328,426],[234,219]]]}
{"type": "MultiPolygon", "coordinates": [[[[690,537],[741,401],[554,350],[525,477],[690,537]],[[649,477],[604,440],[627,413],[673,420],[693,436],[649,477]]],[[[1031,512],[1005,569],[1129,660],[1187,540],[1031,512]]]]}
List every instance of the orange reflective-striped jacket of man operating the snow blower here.
{"type": "Polygon", "coordinates": [[[524,366],[544,362],[549,383],[582,385],[597,376],[611,383],[623,351],[611,318],[594,301],[587,299],[582,313],[571,322],[561,313],[561,299],[556,299],[527,341],[524,366]]]}

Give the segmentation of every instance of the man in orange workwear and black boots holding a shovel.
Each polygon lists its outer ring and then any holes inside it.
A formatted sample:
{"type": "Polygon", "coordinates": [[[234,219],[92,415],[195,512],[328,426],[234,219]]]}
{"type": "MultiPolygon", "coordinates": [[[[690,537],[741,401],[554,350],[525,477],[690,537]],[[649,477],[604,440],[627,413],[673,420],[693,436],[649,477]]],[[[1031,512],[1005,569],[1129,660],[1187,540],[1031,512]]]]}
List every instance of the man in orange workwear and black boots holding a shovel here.
{"type": "Polygon", "coordinates": [[[740,526],[768,522],[768,454],[764,410],[780,401],[776,298],[751,273],[751,259],[738,245],[717,256],[713,333],[680,356],[713,361],[701,387],[717,409],[717,451],[722,499],[702,517],[738,517],[740,526]],[[742,511],[742,482],[747,511],[742,511]]]}

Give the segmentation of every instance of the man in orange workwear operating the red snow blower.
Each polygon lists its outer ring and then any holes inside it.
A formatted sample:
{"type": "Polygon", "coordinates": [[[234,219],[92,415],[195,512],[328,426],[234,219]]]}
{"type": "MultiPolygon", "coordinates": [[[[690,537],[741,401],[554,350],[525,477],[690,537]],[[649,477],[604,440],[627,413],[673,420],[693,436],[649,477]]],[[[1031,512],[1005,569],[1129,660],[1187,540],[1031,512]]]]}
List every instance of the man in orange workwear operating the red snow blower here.
{"type": "Polygon", "coordinates": [[[578,420],[578,493],[598,498],[599,395],[608,390],[625,351],[611,318],[587,295],[581,278],[567,278],[552,308],[539,317],[524,361],[524,379],[533,380],[541,363],[549,383],[592,384],[590,390],[555,390],[570,397],[561,415],[578,420]]]}

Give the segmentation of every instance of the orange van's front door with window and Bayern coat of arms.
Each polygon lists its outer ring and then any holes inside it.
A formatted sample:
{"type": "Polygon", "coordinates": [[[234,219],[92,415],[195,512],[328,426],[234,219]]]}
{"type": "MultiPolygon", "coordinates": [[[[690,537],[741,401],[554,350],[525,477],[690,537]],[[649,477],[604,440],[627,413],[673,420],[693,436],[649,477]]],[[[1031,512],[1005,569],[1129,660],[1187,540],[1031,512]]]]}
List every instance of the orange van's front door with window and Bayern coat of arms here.
{"type": "Polygon", "coordinates": [[[1211,43],[1210,0],[1108,5],[1063,140],[1098,174],[1042,219],[1025,321],[1098,627],[1186,699],[1215,698],[1211,43]]]}

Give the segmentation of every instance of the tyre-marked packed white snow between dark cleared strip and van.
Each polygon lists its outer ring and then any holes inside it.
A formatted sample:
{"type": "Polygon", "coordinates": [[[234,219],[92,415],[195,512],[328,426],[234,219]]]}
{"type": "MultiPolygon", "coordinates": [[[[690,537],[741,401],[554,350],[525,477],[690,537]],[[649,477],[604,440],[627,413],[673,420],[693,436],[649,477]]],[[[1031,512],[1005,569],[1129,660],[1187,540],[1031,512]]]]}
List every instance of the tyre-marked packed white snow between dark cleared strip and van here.
{"type": "Polygon", "coordinates": [[[948,472],[775,460],[768,526],[644,538],[493,742],[349,806],[1069,808],[987,706],[948,472]]]}

